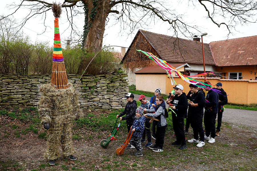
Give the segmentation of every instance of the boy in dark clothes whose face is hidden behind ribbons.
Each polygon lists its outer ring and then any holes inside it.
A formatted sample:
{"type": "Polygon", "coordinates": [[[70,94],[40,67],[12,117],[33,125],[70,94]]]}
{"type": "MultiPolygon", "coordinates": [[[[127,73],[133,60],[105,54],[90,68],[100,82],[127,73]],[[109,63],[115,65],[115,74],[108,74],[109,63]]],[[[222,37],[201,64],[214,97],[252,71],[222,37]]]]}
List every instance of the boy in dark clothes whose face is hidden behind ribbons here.
{"type": "Polygon", "coordinates": [[[216,123],[216,116],[218,112],[218,101],[219,95],[216,91],[213,91],[211,88],[210,82],[204,82],[205,84],[209,84],[210,88],[206,88],[205,90],[208,91],[206,95],[206,104],[205,104],[205,112],[204,112],[204,126],[206,130],[206,135],[204,139],[209,140],[208,143],[215,142],[215,123],[216,123]],[[211,138],[209,137],[211,135],[211,138]]]}

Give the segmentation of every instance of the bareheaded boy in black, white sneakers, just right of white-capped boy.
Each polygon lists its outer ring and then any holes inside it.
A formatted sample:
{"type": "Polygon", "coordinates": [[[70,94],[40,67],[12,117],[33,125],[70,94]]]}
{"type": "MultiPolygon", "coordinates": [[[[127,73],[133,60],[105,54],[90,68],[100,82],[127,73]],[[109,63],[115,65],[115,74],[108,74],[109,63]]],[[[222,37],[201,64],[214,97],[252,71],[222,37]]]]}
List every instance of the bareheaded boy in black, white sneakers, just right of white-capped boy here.
{"type": "Polygon", "coordinates": [[[194,84],[189,84],[190,92],[192,95],[190,96],[188,110],[191,111],[190,115],[190,124],[193,128],[194,138],[188,140],[188,143],[198,143],[197,147],[202,147],[205,145],[204,143],[204,130],[202,128],[202,118],[203,118],[203,108],[205,105],[205,97],[203,91],[198,91],[198,88],[194,84]],[[200,141],[198,140],[198,134],[200,136],[200,141]]]}

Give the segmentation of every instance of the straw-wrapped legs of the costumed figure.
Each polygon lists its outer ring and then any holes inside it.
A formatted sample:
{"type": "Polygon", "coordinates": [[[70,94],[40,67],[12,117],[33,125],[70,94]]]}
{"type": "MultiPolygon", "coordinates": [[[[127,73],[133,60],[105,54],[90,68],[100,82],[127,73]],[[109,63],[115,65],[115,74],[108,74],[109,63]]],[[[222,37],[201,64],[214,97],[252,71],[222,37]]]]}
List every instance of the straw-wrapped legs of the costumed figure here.
{"type": "Polygon", "coordinates": [[[63,123],[60,126],[50,123],[48,130],[49,138],[47,139],[47,150],[45,158],[47,160],[55,160],[59,158],[59,145],[62,147],[64,156],[73,154],[71,130],[73,123],[63,123]]]}

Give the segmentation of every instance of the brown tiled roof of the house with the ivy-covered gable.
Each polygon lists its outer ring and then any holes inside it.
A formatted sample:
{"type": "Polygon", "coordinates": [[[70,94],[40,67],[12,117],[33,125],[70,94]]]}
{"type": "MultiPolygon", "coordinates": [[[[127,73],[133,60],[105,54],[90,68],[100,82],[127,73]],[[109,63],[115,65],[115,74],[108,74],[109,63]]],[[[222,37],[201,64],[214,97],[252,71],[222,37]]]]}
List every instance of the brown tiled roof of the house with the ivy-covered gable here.
{"type": "MultiPolygon", "coordinates": [[[[148,42],[157,51],[160,57],[167,62],[201,64],[202,44],[194,40],[186,40],[163,34],[139,30],[148,42]]],[[[215,65],[209,44],[204,43],[204,59],[206,65],[215,65]]]]}

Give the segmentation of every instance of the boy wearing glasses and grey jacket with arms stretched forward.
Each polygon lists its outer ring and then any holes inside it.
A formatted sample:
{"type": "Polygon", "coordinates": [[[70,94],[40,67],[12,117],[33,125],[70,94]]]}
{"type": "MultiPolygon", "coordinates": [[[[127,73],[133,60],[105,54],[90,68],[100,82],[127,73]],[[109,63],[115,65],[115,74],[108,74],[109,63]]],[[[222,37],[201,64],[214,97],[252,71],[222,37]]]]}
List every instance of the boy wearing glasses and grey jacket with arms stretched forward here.
{"type": "Polygon", "coordinates": [[[144,109],[145,114],[144,116],[155,117],[160,121],[157,122],[157,129],[156,129],[156,141],[153,146],[149,148],[152,149],[154,152],[162,152],[163,151],[163,144],[164,144],[164,135],[167,127],[167,121],[165,118],[165,102],[161,95],[156,97],[156,111],[154,113],[154,109],[144,109]]]}

